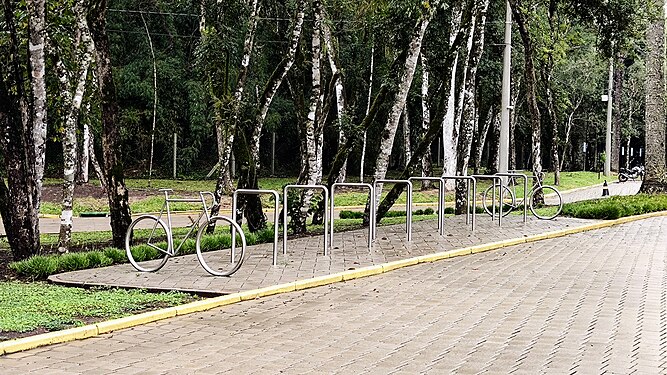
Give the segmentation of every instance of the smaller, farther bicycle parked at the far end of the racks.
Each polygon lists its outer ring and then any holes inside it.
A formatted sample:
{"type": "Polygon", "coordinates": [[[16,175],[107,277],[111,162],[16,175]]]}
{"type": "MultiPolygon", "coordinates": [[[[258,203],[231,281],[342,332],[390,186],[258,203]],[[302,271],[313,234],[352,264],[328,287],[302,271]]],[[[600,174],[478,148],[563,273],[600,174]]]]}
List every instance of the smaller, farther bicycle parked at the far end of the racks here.
{"type": "MultiPolygon", "coordinates": [[[[563,210],[563,196],[560,194],[560,191],[558,191],[558,189],[556,189],[554,186],[542,185],[541,181],[544,179],[543,172],[539,175],[539,177],[540,178],[537,178],[537,176],[528,177],[532,178],[535,181],[533,183],[533,187],[530,188],[530,190],[526,194],[529,204],[528,207],[530,208],[530,212],[536,218],[541,220],[551,220],[560,215],[561,211],[563,210]],[[546,205],[545,203],[535,202],[536,201],[535,198],[540,195],[550,200],[556,200],[556,204],[546,205]],[[556,211],[555,213],[540,215],[537,212],[537,209],[543,206],[555,206],[556,211]]],[[[525,204],[523,200],[519,201],[516,198],[516,181],[515,181],[516,178],[518,177],[508,177],[507,185],[502,185],[503,197],[504,197],[503,217],[508,215],[512,210],[525,204]],[[508,185],[511,185],[511,189],[508,185]],[[507,201],[508,199],[509,202],[507,201]]],[[[486,213],[491,216],[493,216],[493,212],[500,212],[500,210],[498,209],[498,204],[496,204],[496,209],[494,211],[493,205],[495,202],[493,201],[495,200],[495,198],[490,198],[490,196],[493,196],[494,190],[495,190],[495,197],[499,197],[500,192],[498,191],[498,185],[496,184],[489,186],[486,190],[484,190],[484,194],[482,195],[482,206],[484,207],[484,211],[486,211],[486,213]],[[487,202],[489,201],[492,201],[492,203],[487,204],[487,202]]]]}

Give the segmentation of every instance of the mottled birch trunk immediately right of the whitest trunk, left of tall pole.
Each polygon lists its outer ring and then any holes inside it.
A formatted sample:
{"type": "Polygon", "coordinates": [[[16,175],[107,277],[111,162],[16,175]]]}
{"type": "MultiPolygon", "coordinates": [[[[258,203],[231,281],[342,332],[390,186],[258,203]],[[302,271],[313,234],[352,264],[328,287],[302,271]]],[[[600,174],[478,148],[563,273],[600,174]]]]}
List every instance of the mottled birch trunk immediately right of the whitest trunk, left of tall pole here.
{"type": "MultiPolygon", "coordinates": [[[[471,27],[471,34],[474,35],[472,44],[469,43],[471,49],[469,50],[470,61],[467,65],[466,79],[463,83],[464,91],[462,93],[461,103],[461,129],[459,133],[459,144],[457,148],[456,172],[457,175],[468,175],[468,163],[470,161],[470,149],[472,147],[472,135],[474,129],[477,127],[479,113],[476,103],[476,81],[477,81],[477,67],[484,52],[484,36],[486,28],[486,12],[489,8],[489,0],[484,0],[477,4],[476,14],[479,17],[479,22],[471,27]]],[[[456,211],[458,213],[465,212],[467,188],[465,181],[458,181],[456,184],[456,211]]]]}

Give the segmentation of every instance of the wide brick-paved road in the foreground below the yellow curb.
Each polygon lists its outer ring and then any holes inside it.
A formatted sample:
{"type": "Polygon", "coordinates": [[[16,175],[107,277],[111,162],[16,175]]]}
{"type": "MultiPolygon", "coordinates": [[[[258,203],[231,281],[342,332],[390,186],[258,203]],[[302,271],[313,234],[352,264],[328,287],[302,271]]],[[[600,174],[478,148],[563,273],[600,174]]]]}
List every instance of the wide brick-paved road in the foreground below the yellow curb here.
{"type": "Polygon", "coordinates": [[[12,354],[0,368],[665,374],[666,251],[667,218],[648,219],[12,354]]]}

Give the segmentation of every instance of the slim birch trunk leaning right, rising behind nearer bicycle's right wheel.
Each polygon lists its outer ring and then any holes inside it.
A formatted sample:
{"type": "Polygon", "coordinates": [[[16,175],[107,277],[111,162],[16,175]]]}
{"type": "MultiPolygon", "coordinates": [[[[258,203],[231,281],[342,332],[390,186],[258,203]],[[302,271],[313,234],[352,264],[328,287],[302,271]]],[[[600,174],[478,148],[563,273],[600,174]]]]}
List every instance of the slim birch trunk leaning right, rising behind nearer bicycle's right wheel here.
{"type": "MultiPolygon", "coordinates": [[[[217,119],[215,121],[215,132],[218,146],[218,181],[215,186],[215,199],[219,203],[223,194],[231,193],[232,178],[230,174],[230,161],[232,157],[232,146],[234,145],[234,136],[236,135],[236,126],[238,124],[239,112],[241,110],[241,100],[245,90],[248,70],[250,67],[250,57],[252,55],[255,33],[257,31],[257,21],[259,14],[258,0],[250,2],[250,16],[247,22],[247,31],[243,42],[243,56],[238,69],[236,88],[231,103],[228,98],[218,100],[223,108],[218,108],[217,119]]],[[[217,215],[220,211],[220,205],[214,205],[211,208],[211,214],[217,215]]]]}

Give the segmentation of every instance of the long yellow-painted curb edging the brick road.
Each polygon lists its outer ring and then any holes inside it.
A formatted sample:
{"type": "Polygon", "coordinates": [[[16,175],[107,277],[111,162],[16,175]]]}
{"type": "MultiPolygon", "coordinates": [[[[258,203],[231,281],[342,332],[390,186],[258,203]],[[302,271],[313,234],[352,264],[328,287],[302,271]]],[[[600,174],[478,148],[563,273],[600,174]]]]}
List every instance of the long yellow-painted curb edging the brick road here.
{"type": "Polygon", "coordinates": [[[391,272],[401,268],[414,266],[420,263],[433,263],[448,258],[464,256],[469,254],[477,254],[524,243],[554,239],[571,234],[609,228],[616,225],[650,219],[659,216],[667,216],[667,211],[624,217],[616,220],[586,224],[576,228],[560,229],[552,232],[545,232],[521,238],[512,238],[503,241],[469,246],[461,249],[454,249],[429,255],[422,255],[414,258],[403,259],[379,265],[361,267],[353,270],[338,272],[331,275],[319,276],[311,279],[299,280],[290,283],[279,284],[265,288],[209,298],[205,300],[191,302],[185,305],[169,307],[166,309],[146,312],[138,315],[132,315],[125,318],[109,320],[106,322],[100,322],[83,327],[76,327],[63,331],[49,332],[31,337],[3,341],[0,342],[0,356],[28,349],[34,349],[40,346],[58,344],[74,340],[82,340],[85,338],[99,336],[101,334],[109,333],[120,329],[136,327],[147,323],[157,322],[159,320],[173,318],[175,316],[182,316],[186,314],[211,310],[214,308],[239,303],[242,301],[248,301],[262,297],[273,296],[276,294],[290,293],[299,290],[335,284],[343,281],[349,281],[349,280],[360,279],[363,277],[379,275],[382,273],[391,272]]]}

